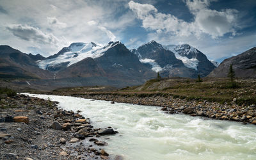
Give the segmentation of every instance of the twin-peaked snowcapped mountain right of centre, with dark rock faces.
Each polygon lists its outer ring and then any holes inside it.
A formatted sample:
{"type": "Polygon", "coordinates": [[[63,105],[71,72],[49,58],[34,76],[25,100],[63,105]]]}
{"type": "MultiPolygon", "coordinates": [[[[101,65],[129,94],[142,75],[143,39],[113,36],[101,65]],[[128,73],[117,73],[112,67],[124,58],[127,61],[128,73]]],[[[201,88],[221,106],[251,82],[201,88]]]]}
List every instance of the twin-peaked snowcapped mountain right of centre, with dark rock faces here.
{"type": "Polygon", "coordinates": [[[164,46],[153,40],[131,52],[162,76],[204,77],[216,68],[205,54],[189,44],[164,46]]]}

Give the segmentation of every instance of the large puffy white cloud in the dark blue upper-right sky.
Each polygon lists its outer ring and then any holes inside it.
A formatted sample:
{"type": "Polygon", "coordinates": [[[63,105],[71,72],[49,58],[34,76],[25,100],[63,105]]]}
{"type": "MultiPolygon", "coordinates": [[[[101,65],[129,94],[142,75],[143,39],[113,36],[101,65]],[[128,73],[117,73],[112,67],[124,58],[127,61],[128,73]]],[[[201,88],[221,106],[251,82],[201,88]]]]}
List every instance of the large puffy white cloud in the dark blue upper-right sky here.
{"type": "Polygon", "coordinates": [[[218,38],[226,33],[236,35],[237,10],[210,10],[207,0],[186,0],[189,11],[194,16],[193,22],[178,19],[172,14],[159,13],[151,4],[140,4],[130,1],[129,8],[142,20],[145,29],[156,33],[171,33],[171,35],[190,36],[200,38],[203,34],[218,38]]]}

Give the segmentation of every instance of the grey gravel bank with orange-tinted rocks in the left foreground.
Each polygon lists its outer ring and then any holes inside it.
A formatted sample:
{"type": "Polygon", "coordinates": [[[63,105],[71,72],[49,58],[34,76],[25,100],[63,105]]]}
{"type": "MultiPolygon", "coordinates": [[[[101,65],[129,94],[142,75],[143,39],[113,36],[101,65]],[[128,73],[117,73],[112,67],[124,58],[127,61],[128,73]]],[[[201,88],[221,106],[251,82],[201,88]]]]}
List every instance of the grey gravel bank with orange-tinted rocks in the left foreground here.
{"type": "Polygon", "coordinates": [[[0,159],[108,159],[89,118],[57,108],[58,102],[16,95],[0,99],[0,159]]]}

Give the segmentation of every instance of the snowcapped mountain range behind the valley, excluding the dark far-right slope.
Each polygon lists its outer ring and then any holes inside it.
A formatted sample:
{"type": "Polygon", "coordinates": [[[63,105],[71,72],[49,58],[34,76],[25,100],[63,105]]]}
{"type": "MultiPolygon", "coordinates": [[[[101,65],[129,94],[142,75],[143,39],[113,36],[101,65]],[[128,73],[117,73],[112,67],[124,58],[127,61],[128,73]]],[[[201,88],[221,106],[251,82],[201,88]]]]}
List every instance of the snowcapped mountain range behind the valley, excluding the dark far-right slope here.
{"type": "Polygon", "coordinates": [[[218,66],[189,44],[156,41],[131,50],[120,42],[105,46],[77,42],[47,58],[0,45],[0,55],[1,78],[34,79],[29,84],[47,86],[131,86],[156,77],[157,72],[162,77],[195,78],[209,75],[218,66]]]}

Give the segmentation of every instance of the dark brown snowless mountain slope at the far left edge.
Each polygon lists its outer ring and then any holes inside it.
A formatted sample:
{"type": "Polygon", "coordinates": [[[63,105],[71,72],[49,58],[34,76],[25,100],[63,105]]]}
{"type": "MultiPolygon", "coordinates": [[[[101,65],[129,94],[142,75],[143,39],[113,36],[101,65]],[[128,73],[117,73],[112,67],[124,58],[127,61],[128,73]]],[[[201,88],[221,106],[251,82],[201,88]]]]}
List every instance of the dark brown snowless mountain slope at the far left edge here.
{"type": "Polygon", "coordinates": [[[8,45],[0,45],[0,77],[22,79],[52,79],[48,70],[38,68],[31,55],[13,49],[8,45]]]}

